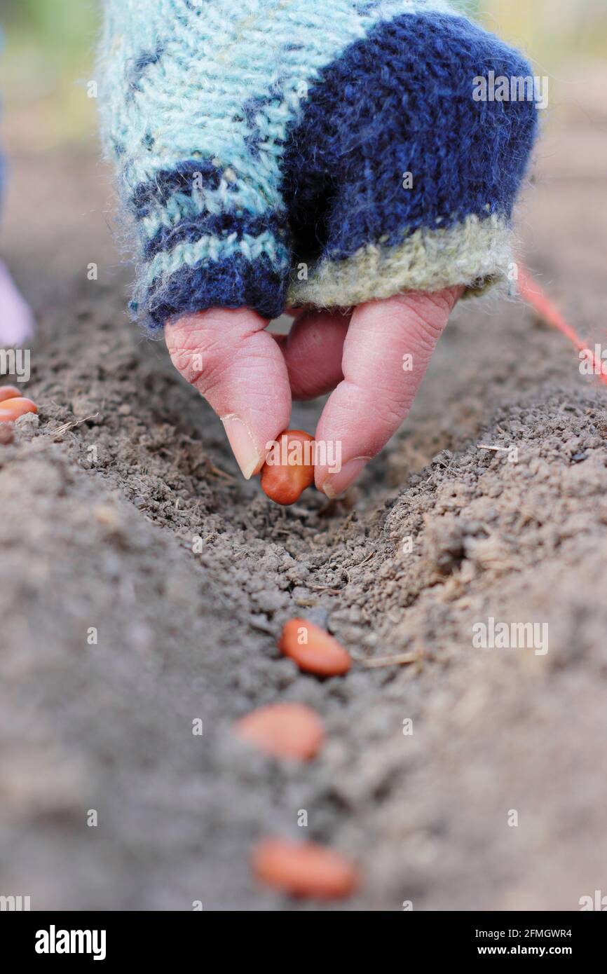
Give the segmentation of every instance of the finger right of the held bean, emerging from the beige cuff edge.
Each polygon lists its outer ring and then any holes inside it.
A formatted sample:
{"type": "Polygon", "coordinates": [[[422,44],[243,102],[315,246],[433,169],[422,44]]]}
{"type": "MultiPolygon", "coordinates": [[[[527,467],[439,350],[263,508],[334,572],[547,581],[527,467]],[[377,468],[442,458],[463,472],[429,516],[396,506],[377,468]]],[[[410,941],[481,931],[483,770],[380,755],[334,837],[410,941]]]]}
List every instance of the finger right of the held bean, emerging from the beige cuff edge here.
{"type": "Polygon", "coordinates": [[[344,342],[343,381],[316,432],[327,457],[316,483],[327,497],[344,491],[398,430],[417,393],[461,287],[407,292],[356,309],[344,342]]]}

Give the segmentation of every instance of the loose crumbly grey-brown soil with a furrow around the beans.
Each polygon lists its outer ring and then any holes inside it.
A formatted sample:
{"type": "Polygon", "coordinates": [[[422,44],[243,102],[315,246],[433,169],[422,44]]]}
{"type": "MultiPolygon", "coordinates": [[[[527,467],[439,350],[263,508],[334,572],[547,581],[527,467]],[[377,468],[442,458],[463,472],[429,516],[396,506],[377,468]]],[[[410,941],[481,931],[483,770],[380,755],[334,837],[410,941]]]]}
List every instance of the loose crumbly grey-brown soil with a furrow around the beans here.
{"type": "MultiPolygon", "coordinates": [[[[605,142],[545,142],[520,214],[591,342],[605,142]]],[[[399,911],[576,910],[606,890],[607,390],[518,300],[464,304],[347,501],[274,506],[128,323],[105,170],[22,156],[12,178],[3,242],[40,322],[40,418],[0,446],[0,892],[36,910],[399,911]],[[279,656],[294,615],[349,647],[346,679],[279,656]],[[474,649],[489,617],[548,622],[548,654],[474,649]],[[396,654],[417,661],[364,666],[396,654]],[[310,765],[231,733],[280,700],[322,715],[310,765]],[[267,835],[350,854],[360,893],[257,887],[267,835]]],[[[314,431],[320,408],[292,425],[314,431]]]]}

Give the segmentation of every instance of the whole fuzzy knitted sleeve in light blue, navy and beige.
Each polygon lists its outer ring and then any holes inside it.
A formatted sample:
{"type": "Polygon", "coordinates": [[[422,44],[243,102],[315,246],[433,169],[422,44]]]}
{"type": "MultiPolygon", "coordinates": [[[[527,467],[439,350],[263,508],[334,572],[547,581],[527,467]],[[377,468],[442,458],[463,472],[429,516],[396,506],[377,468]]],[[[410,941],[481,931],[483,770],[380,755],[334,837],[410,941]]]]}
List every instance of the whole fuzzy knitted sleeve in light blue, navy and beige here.
{"type": "Polygon", "coordinates": [[[505,276],[531,71],[443,0],[105,0],[99,66],[152,328],[505,276]]]}

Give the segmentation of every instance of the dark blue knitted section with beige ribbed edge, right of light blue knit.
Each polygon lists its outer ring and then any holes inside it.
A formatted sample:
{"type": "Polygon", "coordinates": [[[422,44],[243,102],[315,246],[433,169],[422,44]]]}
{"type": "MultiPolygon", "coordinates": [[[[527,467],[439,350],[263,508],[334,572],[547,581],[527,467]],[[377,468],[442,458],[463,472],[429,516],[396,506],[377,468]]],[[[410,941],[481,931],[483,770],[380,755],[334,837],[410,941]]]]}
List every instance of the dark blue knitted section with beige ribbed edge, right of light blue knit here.
{"type": "Polygon", "coordinates": [[[321,72],[285,146],[289,300],[351,305],[401,290],[480,288],[512,260],[512,206],[538,131],[531,68],[471,21],[380,23],[321,72]],[[523,100],[478,82],[527,79],[523,100]]]}

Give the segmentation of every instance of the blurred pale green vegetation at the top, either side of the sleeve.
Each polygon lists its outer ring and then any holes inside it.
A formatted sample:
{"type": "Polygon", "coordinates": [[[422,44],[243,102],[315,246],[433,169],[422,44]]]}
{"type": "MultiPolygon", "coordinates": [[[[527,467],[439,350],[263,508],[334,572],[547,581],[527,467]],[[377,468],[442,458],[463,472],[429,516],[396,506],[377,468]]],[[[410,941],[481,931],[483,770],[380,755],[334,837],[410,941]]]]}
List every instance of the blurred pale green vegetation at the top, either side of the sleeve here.
{"type": "MultiPolygon", "coordinates": [[[[525,51],[538,74],[562,80],[575,74],[573,65],[607,55],[607,0],[452,2],[525,51]]],[[[95,144],[86,83],[94,77],[101,7],[102,0],[2,0],[0,94],[13,146],[95,144]]]]}

